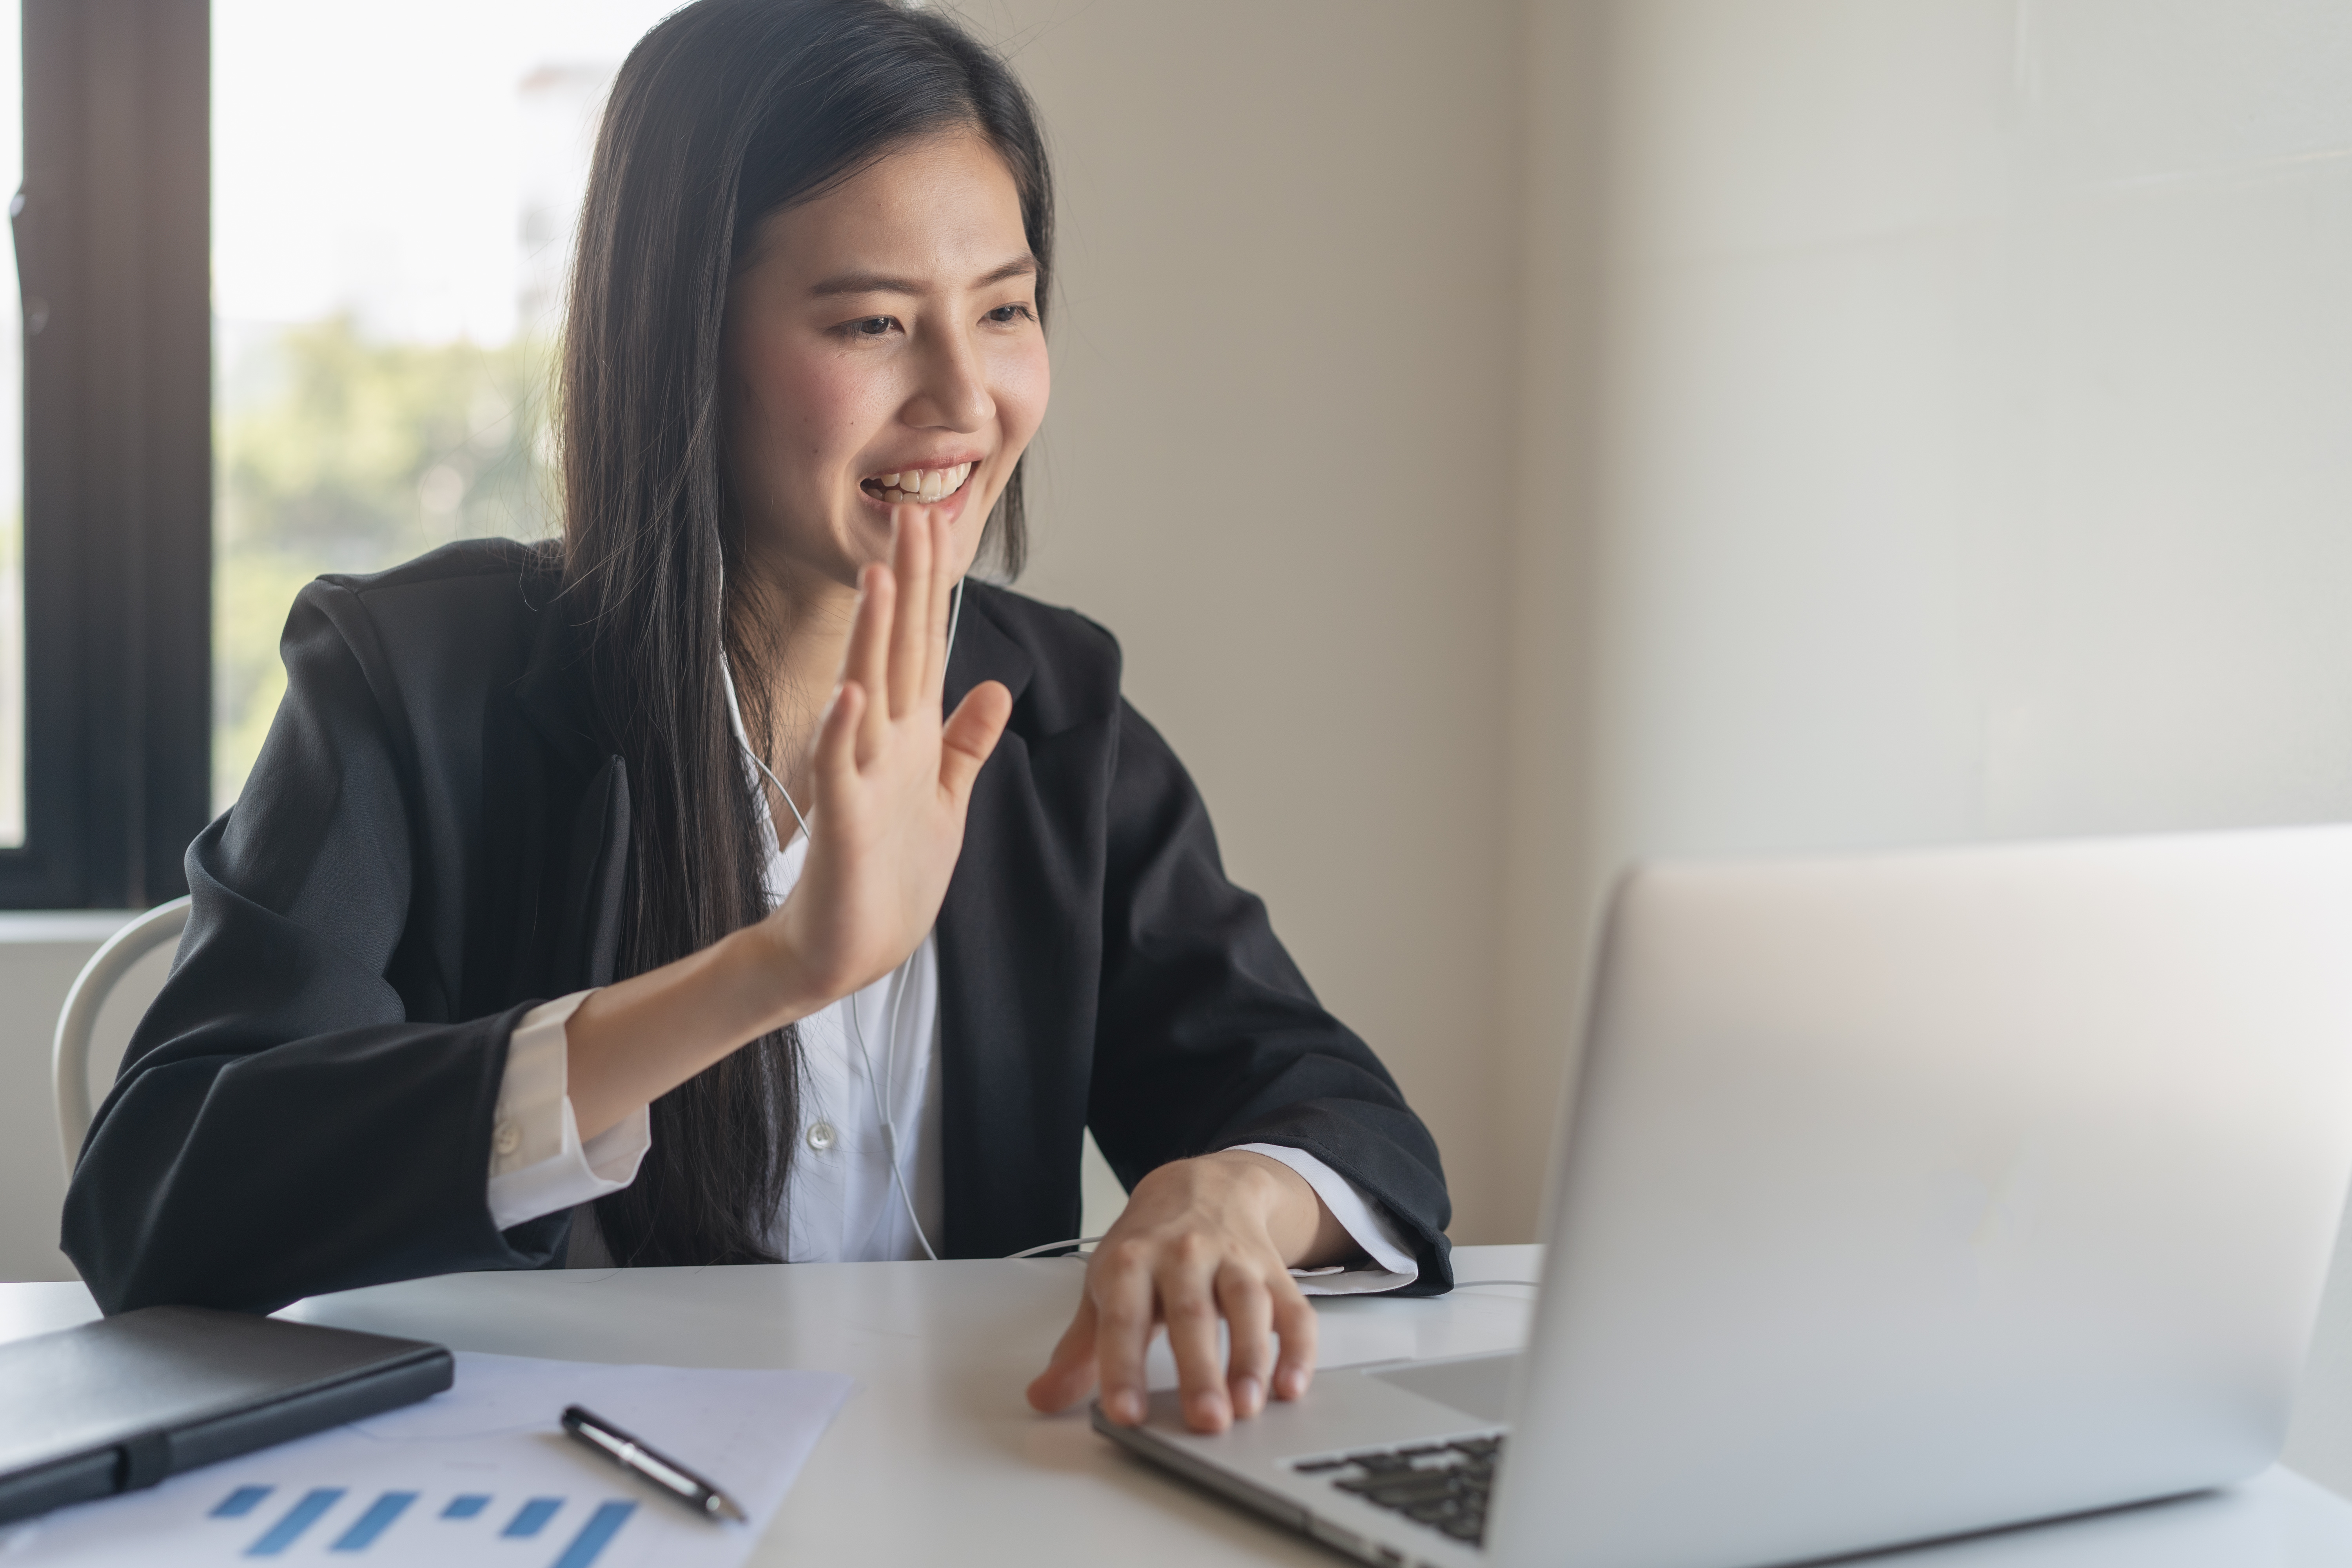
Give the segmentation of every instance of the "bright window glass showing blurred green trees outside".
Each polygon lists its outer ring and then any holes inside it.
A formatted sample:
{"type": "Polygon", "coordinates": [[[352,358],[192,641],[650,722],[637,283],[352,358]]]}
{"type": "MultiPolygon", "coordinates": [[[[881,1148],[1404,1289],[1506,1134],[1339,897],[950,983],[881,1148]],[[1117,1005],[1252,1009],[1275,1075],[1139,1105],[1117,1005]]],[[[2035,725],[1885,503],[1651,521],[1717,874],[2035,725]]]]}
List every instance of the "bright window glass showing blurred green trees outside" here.
{"type": "MultiPolygon", "coordinates": [[[[306,581],[555,531],[548,388],[595,115],[668,9],[212,2],[216,811],[278,710],[278,632],[306,581]]],[[[12,303],[9,357],[14,320],[12,303]]],[[[0,463],[0,835],[16,842],[16,449],[0,463]]]]}

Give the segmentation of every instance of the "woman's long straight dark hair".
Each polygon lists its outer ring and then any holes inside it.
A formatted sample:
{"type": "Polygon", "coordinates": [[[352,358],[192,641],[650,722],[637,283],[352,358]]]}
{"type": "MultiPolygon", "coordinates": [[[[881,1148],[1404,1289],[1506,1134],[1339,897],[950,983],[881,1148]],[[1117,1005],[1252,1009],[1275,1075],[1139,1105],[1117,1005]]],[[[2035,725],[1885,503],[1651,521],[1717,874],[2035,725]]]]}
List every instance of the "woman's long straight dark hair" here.
{"type": "MultiPolygon", "coordinates": [[[[1054,197],[1037,118],[1004,61],[946,16],[887,0],[701,0],[647,33],[614,82],[560,404],[564,602],[630,785],[623,976],[767,914],[762,806],[720,684],[724,649],[746,696],[764,691],[769,642],[722,604],[741,559],[722,461],[727,282],[762,219],[957,125],[1011,169],[1042,310],[1054,197]]],[[[983,534],[1007,576],[1023,524],[1014,465],[983,534]]],[[[797,1034],[779,1030],[654,1103],[637,1180],[597,1201],[619,1262],[776,1260],[797,1077],[797,1034]]]]}

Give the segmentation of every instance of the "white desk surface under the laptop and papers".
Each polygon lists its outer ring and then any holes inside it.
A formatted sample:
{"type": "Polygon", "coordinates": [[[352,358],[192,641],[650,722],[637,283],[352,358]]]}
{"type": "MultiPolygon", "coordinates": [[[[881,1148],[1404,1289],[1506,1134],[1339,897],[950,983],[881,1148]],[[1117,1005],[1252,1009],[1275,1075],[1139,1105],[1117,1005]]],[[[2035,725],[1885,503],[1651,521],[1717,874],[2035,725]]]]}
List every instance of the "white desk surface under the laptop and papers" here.
{"type": "MultiPolygon", "coordinates": [[[[1470,1246],[1463,1279],[1531,1279],[1536,1248],[1470,1246]]],[[[1080,1265],[844,1262],[456,1274],[318,1298],[315,1324],[576,1361],[809,1366],[858,1392],[753,1563],[1315,1563],[1343,1559],[1021,1399],[1080,1265]]],[[[1322,1361],[1515,1347],[1531,1291],[1327,1300],[1322,1361]]],[[[96,1316],[73,1284],[0,1286],[0,1338],[96,1316]]],[[[1164,1349],[1160,1375],[1171,1385],[1164,1349]]],[[[2352,1502],[2274,1469],[2234,1493],[1875,1559],[1889,1568],[2343,1568],[2352,1502]]]]}

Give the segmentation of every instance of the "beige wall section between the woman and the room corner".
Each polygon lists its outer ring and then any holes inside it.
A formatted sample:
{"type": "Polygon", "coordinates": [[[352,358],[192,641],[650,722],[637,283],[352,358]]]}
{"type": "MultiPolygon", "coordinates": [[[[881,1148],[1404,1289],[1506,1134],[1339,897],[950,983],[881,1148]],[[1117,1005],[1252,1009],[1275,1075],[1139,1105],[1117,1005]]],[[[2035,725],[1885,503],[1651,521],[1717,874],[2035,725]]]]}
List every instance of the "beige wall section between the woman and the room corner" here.
{"type": "Polygon", "coordinates": [[[1494,1232],[1515,0],[964,0],[1061,181],[1023,590],[1127,689],[1232,877],[1494,1232]]]}

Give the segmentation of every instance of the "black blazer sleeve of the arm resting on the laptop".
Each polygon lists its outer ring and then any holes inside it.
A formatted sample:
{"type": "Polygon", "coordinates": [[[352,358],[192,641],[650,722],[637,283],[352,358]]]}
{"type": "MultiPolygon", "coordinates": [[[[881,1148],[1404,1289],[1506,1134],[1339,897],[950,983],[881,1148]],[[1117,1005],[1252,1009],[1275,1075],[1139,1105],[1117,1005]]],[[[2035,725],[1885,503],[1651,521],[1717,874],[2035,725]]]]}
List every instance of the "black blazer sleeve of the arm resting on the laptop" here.
{"type": "Polygon", "coordinates": [[[1411,1239],[1421,1279],[1454,1288],[1437,1143],[1397,1081],[1322,1009],[1265,905],[1225,879],[1209,811],[1176,752],[1120,701],[1103,886],[1103,992],[1089,1121],[1129,1187],[1152,1166],[1237,1143],[1315,1154],[1411,1239]]]}

